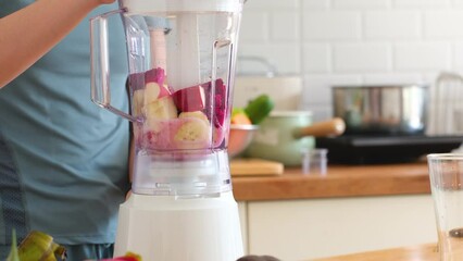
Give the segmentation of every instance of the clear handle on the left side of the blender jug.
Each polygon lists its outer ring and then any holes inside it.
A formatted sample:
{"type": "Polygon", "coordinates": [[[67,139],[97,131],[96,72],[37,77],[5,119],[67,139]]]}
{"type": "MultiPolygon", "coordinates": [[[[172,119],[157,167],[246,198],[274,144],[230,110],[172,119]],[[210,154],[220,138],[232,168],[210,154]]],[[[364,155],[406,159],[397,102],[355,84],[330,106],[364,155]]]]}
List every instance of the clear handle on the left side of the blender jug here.
{"type": "Polygon", "coordinates": [[[114,10],[90,18],[91,101],[116,115],[136,122],[136,117],[111,105],[108,17],[125,11],[114,10]]]}

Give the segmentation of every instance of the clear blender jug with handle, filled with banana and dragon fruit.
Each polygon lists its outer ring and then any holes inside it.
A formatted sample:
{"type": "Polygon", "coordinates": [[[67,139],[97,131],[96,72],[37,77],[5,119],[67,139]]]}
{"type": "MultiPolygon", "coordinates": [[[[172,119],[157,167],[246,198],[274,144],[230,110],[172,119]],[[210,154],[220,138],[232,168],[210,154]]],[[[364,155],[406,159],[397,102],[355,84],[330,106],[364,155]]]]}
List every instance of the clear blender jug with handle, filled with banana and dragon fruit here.
{"type": "Polygon", "coordinates": [[[107,96],[104,15],[91,22],[92,74],[100,74],[92,99],[133,122],[135,194],[202,197],[232,189],[227,146],[242,0],[192,3],[120,1],[129,114],[107,96]]]}

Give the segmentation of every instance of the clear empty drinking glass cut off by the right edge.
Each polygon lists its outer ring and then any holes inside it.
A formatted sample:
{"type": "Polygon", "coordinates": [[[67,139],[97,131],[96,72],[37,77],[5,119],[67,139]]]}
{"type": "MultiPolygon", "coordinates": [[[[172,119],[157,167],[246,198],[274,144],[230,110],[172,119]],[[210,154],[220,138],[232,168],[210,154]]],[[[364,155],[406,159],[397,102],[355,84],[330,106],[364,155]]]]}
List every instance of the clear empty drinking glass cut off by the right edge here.
{"type": "Polygon", "coordinates": [[[427,162],[440,260],[463,260],[463,154],[429,154],[427,162]]]}

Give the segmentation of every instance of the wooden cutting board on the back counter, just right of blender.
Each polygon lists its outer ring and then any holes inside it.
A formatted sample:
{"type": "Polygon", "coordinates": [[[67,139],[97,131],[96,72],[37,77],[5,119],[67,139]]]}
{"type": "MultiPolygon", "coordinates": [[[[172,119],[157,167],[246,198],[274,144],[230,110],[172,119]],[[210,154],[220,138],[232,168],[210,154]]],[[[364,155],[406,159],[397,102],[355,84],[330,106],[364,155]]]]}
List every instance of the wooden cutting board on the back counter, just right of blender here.
{"type": "Polygon", "coordinates": [[[230,161],[232,176],[272,176],[281,175],[283,163],[261,159],[235,159],[230,161]]]}

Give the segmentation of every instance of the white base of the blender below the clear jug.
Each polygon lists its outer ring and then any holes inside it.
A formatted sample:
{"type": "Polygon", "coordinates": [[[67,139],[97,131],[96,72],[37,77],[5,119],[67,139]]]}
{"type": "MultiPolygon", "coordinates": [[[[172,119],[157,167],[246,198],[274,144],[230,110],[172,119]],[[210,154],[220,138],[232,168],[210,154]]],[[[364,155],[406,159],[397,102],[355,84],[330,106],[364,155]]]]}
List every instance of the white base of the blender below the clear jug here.
{"type": "Polygon", "coordinates": [[[143,261],[236,261],[243,256],[233,192],[187,198],[133,194],[121,204],[114,256],[143,261]]]}

